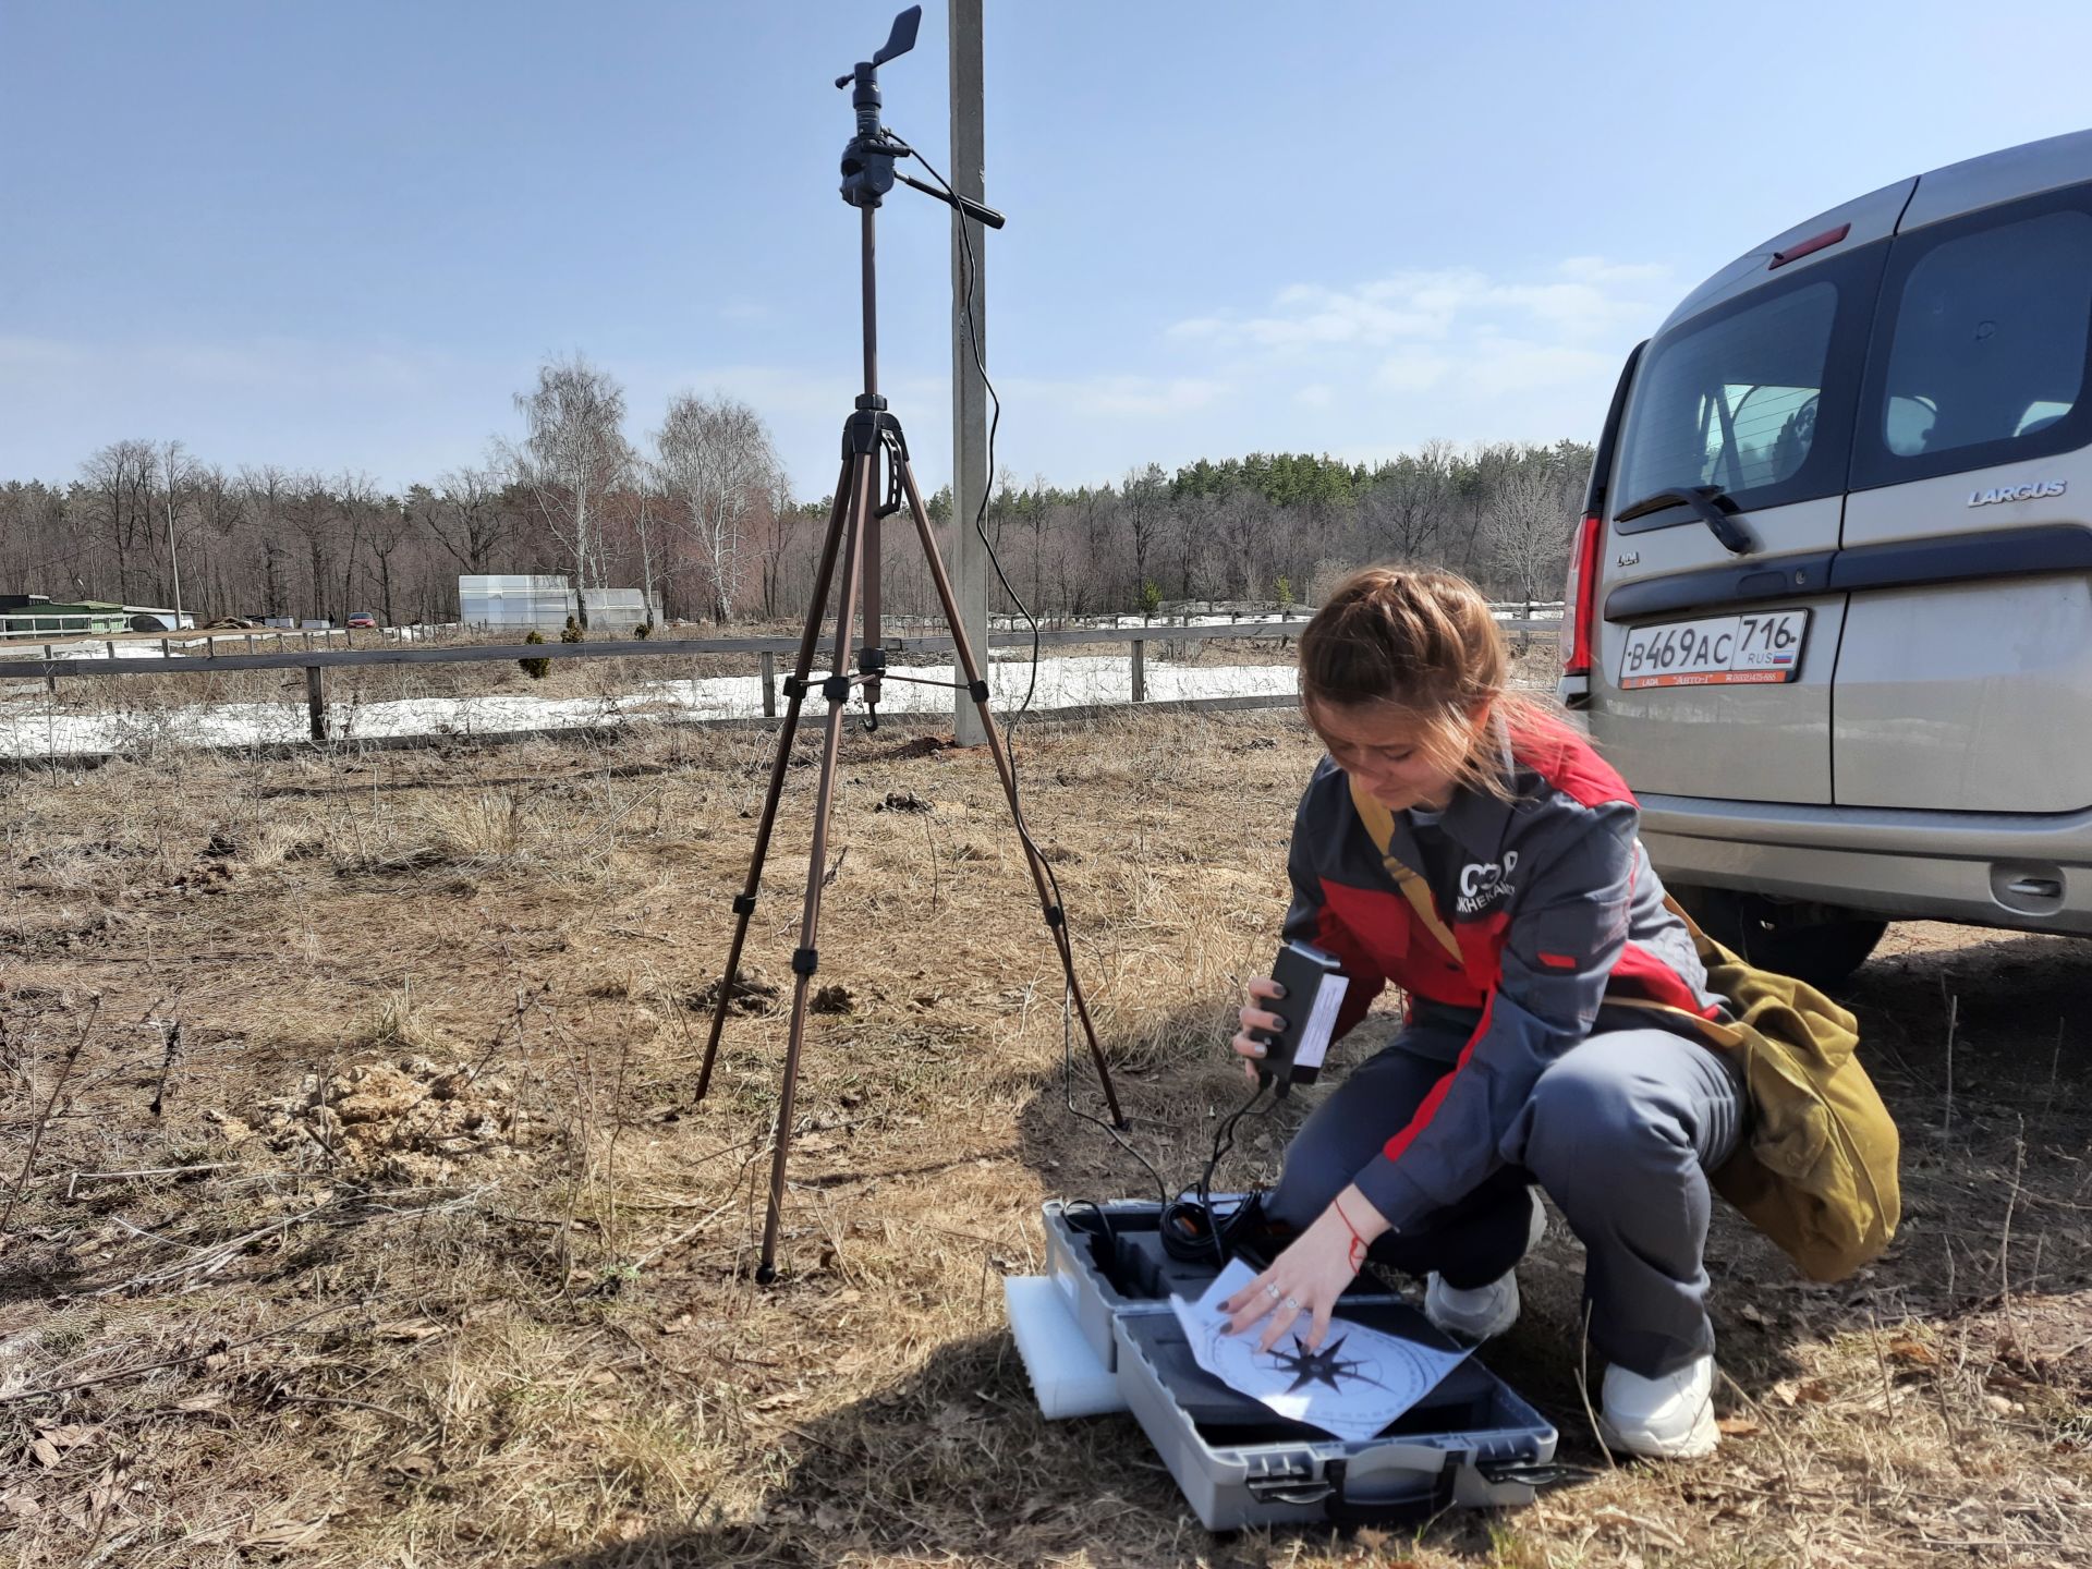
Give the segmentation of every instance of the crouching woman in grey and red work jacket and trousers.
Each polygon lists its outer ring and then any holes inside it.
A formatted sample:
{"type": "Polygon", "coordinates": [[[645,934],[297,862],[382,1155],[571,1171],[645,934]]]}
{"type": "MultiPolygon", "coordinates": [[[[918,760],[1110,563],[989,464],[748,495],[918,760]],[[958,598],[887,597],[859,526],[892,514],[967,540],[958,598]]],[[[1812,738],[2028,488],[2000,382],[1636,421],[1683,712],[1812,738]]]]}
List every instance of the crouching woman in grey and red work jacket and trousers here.
{"type": "MultiPolygon", "coordinates": [[[[1538,1184],[1586,1247],[1607,1443],[1709,1452],[1707,1174],[1745,1136],[1745,1092],[1692,1033],[1724,998],[1665,908],[1634,797],[1508,688],[1502,634],[1460,577],[1351,575],[1299,663],[1328,757],[1295,818],[1284,933],[1341,960],[1339,1036],[1389,981],[1408,1013],[1293,1138],[1266,1209],[1299,1236],[1230,1299],[1232,1326],[1320,1345],[1370,1251],[1429,1276],[1441,1328],[1498,1335],[1538,1184]]],[[[1284,1004],[1253,981],[1234,1050],[1259,1056],[1251,1031],[1284,1004]]]]}

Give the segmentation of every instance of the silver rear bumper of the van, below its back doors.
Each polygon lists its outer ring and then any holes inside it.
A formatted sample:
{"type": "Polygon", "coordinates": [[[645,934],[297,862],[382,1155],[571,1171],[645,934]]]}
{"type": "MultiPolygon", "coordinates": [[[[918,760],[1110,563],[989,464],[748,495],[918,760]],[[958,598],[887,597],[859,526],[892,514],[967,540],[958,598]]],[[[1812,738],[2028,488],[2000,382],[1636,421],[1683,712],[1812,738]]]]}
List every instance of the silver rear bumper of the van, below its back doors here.
{"type": "Polygon", "coordinates": [[[2092,935],[2092,812],[1881,808],[1644,795],[1667,883],[1839,904],[1893,920],[2092,935]]]}

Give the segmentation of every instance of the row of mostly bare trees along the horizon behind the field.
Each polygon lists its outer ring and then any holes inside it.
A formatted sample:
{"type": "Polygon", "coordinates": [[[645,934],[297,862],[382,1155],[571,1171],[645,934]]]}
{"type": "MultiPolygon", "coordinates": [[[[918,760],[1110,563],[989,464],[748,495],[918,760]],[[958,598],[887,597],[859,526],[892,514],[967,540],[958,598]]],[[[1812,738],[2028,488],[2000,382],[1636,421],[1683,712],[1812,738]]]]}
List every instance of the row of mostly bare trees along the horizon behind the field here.
{"type": "MultiPolygon", "coordinates": [[[[544,364],[515,404],[521,437],[404,494],[142,439],[111,441],[71,483],[0,481],[0,590],[402,623],[456,619],[460,573],[561,573],[638,586],[672,619],[803,613],[833,498],[793,500],[753,408],[680,393],[636,446],[623,389],[579,356],[544,364]]],[[[1040,615],[1312,600],[1335,571],[1391,556],[1552,598],[1588,469],[1571,441],[1439,441],[1372,467],[1251,454],[1077,490],[1002,475],[985,529],[1040,615]]],[[[931,515],[950,548],[950,492],[931,515]]],[[[891,611],[935,611],[912,531],[887,529],[883,584],[891,611]]]]}

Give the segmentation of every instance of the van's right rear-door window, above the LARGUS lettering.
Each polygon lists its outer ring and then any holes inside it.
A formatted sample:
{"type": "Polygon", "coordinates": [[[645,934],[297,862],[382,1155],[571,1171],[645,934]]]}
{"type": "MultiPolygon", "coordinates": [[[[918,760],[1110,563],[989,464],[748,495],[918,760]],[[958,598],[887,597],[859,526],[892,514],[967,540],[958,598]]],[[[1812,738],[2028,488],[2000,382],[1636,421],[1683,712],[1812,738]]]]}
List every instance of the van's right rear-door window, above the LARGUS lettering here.
{"type": "Polygon", "coordinates": [[[2084,395],[2092,215],[2052,211],[1931,245],[1893,308],[1881,408],[1889,452],[2040,435],[2084,395]]]}

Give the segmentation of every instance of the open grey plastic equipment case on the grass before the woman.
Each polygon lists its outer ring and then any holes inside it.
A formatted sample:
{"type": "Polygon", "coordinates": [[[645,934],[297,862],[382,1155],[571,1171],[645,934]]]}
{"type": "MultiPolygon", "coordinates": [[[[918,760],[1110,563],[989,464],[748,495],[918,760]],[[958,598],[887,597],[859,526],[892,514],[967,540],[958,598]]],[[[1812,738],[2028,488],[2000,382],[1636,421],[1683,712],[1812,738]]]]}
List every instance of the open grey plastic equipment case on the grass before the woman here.
{"type": "MultiPolygon", "coordinates": [[[[1228,1203],[1213,1197],[1215,1211],[1228,1203]]],[[[1276,1414],[1197,1364],[1169,1297],[1203,1295],[1220,1266],[1161,1245],[1161,1205],[1050,1201],[1042,1224],[1046,1278],[1006,1282],[1040,1410],[1132,1412],[1211,1531],[1370,1525],[1448,1506],[1527,1504],[1552,1477],[1554,1427],[1473,1356],[1379,1435],[1339,1439],[1276,1414]],[[1077,1387],[1084,1393],[1069,1397],[1077,1387]],[[1115,1397],[1092,1397],[1098,1389],[1115,1389],[1115,1397]]],[[[1253,1247],[1238,1251],[1255,1257],[1253,1247]]],[[[1339,1314],[1452,1345],[1364,1276],[1339,1314]]]]}

